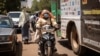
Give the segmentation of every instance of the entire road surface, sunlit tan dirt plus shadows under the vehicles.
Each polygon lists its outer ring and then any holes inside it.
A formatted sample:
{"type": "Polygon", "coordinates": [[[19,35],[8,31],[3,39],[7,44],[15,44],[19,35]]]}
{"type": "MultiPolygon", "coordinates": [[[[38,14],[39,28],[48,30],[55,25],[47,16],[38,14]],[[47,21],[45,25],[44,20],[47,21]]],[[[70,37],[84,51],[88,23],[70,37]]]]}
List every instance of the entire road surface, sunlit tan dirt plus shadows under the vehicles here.
{"type": "MultiPolygon", "coordinates": [[[[34,34],[31,34],[32,36],[34,34]]],[[[21,34],[18,34],[18,45],[17,45],[17,54],[16,56],[39,56],[38,55],[38,45],[32,41],[29,44],[23,44],[21,34]]],[[[57,53],[55,56],[77,56],[73,53],[71,48],[68,46],[66,39],[62,40],[57,38],[56,40],[57,53]]],[[[10,56],[8,53],[0,53],[0,56],[10,56]]],[[[83,56],[100,56],[100,54],[89,50],[83,56]]]]}

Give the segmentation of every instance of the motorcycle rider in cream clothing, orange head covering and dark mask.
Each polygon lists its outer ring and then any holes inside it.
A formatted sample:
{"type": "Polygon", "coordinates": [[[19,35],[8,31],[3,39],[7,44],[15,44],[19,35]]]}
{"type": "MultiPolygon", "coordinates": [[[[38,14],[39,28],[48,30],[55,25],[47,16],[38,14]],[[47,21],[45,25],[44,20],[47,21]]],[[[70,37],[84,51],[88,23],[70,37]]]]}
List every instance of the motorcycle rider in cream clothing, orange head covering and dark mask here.
{"type": "MultiPolygon", "coordinates": [[[[43,31],[41,31],[41,27],[46,25],[46,24],[49,24],[49,25],[52,25],[55,29],[58,28],[58,24],[55,20],[55,17],[52,15],[51,12],[49,12],[48,10],[44,9],[41,14],[40,14],[40,17],[36,23],[36,33],[35,33],[35,37],[34,37],[34,41],[35,42],[38,42],[41,41],[40,38],[43,34],[43,31]]],[[[52,34],[55,34],[55,32],[53,32],[52,34]]],[[[57,51],[56,48],[54,48],[55,51],[57,51]]]]}

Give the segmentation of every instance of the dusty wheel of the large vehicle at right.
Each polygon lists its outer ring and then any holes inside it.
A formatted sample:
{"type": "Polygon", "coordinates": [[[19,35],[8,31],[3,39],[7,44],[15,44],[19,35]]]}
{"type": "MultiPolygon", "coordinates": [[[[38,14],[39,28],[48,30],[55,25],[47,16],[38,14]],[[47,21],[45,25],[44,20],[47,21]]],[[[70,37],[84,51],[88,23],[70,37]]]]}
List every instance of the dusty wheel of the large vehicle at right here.
{"type": "Polygon", "coordinates": [[[79,37],[76,27],[73,26],[71,30],[71,47],[75,54],[82,55],[84,53],[84,47],[79,44],[79,37]]]}

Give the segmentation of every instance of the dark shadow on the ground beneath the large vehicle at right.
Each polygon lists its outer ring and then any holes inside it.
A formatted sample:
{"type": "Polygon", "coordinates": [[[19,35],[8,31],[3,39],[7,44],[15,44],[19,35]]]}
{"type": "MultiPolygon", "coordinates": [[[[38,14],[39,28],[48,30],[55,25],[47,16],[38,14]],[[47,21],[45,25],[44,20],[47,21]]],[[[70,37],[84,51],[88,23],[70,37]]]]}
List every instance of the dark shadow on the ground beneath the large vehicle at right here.
{"type": "MultiPolygon", "coordinates": [[[[67,48],[69,50],[72,50],[67,39],[66,40],[63,40],[63,39],[58,40],[58,43],[60,45],[62,45],[63,47],[65,47],[65,48],[67,48]]],[[[83,55],[78,55],[78,56],[100,56],[100,53],[97,53],[97,52],[95,52],[93,50],[90,50],[90,49],[86,48],[86,52],[83,55]]]]}

